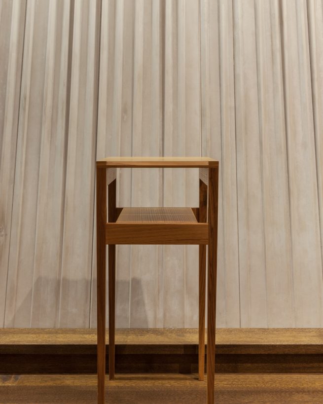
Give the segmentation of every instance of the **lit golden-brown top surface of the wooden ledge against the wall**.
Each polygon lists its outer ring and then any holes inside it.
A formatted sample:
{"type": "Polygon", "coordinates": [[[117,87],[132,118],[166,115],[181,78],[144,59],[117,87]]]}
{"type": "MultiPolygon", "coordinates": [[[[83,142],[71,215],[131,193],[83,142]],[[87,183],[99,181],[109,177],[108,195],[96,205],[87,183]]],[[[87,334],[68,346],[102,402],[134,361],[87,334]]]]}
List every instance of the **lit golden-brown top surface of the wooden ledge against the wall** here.
{"type": "MultiPolygon", "coordinates": [[[[107,331],[106,331],[107,333],[107,331]]],[[[198,329],[116,329],[117,344],[196,345],[198,329]]],[[[207,335],[206,335],[207,337],[207,335]]],[[[94,329],[0,329],[1,345],[93,345],[94,329]]],[[[216,351],[221,353],[323,353],[322,329],[216,329],[216,351]]],[[[107,333],[108,343],[108,333],[107,333]]],[[[1,348],[2,349],[2,348],[1,348]]]]}

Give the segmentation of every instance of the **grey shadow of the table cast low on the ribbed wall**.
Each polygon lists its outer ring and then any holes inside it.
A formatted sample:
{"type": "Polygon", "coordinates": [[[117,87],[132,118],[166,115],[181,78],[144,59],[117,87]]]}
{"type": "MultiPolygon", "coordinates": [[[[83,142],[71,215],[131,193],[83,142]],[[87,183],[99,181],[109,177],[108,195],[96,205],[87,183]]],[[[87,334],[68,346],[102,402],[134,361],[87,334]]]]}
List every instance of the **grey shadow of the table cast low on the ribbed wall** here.
{"type": "MultiPolygon", "coordinates": [[[[94,295],[91,298],[90,279],[63,278],[60,282],[59,279],[40,276],[21,301],[16,299],[16,310],[6,310],[5,327],[89,328],[90,324],[91,327],[96,327],[96,280],[94,283],[92,289],[94,295]]],[[[147,328],[148,319],[141,279],[132,278],[131,294],[129,289],[129,281],[116,281],[116,327],[128,328],[130,325],[132,328],[147,328]],[[131,312],[129,296],[131,296],[131,312]]]]}

